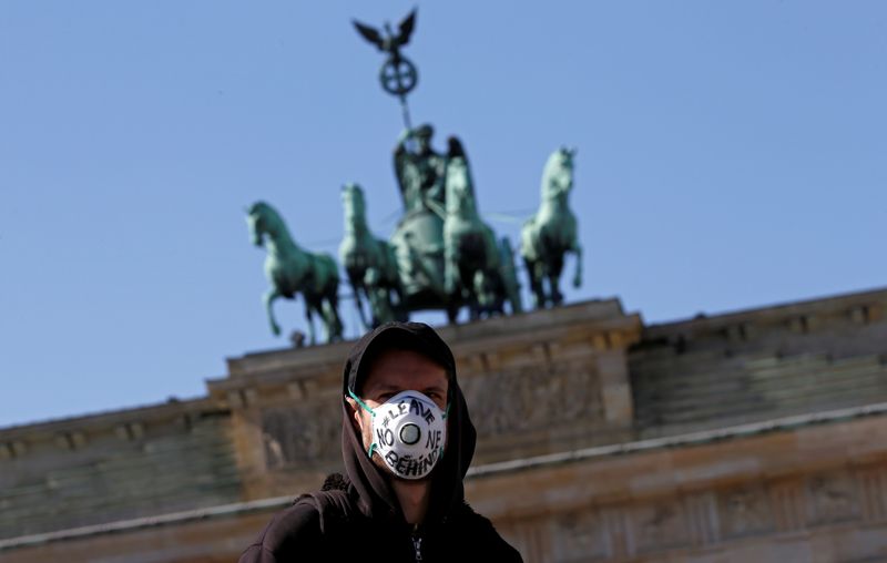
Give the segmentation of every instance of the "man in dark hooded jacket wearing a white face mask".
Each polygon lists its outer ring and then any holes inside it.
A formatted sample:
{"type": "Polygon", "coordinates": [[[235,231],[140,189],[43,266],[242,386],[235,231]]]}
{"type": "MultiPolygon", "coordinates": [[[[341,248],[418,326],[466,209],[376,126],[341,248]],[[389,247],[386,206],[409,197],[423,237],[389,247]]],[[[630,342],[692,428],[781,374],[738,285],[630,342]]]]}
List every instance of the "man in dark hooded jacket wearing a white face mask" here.
{"type": "Polygon", "coordinates": [[[276,514],[241,563],[521,561],[465,502],[475,427],[429,326],[365,335],[345,364],[341,410],[346,475],[276,514]]]}

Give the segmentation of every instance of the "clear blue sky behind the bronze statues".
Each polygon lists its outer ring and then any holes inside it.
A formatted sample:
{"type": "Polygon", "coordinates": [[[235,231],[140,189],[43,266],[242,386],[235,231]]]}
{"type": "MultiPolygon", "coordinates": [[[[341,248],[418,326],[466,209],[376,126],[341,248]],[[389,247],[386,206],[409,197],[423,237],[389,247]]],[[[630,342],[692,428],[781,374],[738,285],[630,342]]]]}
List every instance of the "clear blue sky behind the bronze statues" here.
{"type": "MultiPolygon", "coordinates": [[[[350,19],[414,4],[0,3],[0,426],[200,396],[288,345],[243,209],[335,252],[357,181],[390,235],[400,113],[350,19]]],[[[461,136],[481,213],[529,215],[579,147],[569,300],[650,323],[887,285],[887,3],[418,6],[414,119],[461,136]]]]}

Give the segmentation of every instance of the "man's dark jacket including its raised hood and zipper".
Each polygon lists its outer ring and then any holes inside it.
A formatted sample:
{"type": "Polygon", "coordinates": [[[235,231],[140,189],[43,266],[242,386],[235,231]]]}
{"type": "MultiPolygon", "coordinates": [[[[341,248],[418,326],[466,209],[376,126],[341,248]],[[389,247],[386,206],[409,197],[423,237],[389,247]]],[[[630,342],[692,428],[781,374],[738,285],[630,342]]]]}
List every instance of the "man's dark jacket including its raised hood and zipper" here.
{"type": "Polygon", "coordinates": [[[277,513],[241,556],[241,563],[310,561],[519,562],[521,556],[489,520],[465,501],[462,480],[477,433],[456,377],[449,347],[421,323],[388,323],[351,349],[343,373],[341,454],[345,475],[327,478],[322,491],[304,494],[277,513]],[[345,397],[357,392],[374,359],[390,349],[421,354],[443,367],[448,386],[448,443],[429,479],[430,500],[421,524],[409,524],[389,480],[367,455],[351,424],[345,397]]]}

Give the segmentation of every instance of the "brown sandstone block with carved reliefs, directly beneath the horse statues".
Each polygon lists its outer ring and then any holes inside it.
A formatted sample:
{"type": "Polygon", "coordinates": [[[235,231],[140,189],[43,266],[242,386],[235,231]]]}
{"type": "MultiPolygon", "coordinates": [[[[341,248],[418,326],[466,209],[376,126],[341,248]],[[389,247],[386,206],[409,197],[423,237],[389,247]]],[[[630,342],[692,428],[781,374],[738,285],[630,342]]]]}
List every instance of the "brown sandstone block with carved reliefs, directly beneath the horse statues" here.
{"type": "MultiPolygon", "coordinates": [[[[443,327],[478,429],[476,463],[632,433],[626,349],[641,321],[616,300],[443,327]]],[[[317,488],[340,471],[341,369],[350,344],[232,359],[210,393],[232,411],[245,497],[317,488]]]]}

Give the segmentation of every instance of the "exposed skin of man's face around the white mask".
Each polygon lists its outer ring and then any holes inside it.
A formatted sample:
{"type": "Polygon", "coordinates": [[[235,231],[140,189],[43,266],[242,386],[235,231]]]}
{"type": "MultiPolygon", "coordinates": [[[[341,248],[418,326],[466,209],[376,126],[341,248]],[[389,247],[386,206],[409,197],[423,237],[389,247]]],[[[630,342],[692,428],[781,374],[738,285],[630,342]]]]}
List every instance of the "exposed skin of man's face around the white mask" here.
{"type": "MultiPolygon", "coordinates": [[[[381,352],[369,368],[364,385],[357,395],[371,409],[401,391],[419,391],[435,401],[440,410],[447,409],[449,379],[447,371],[421,354],[410,350],[381,352]]],[[[347,397],[353,422],[364,441],[364,450],[373,443],[373,418],[357,401],[347,397]]],[[[378,454],[373,457],[376,465],[388,471],[378,454]]]]}

